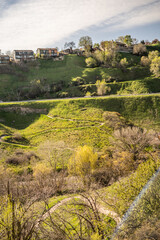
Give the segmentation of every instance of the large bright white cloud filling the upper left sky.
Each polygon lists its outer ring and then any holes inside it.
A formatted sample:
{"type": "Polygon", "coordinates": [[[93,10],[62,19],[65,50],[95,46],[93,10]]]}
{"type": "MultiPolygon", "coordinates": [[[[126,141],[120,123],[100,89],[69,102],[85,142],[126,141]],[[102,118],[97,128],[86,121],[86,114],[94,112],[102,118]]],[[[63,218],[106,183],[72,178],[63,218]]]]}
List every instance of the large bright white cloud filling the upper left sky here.
{"type": "MultiPolygon", "coordinates": [[[[0,15],[0,48],[49,46],[78,30],[151,2],[153,0],[21,0],[0,15]]],[[[5,3],[5,0],[0,1],[2,5],[5,3]]],[[[155,17],[153,12],[150,15],[155,17]]],[[[135,17],[128,20],[128,24],[134,25],[135,17]]],[[[140,20],[147,21],[145,16],[140,20]]],[[[154,18],[150,17],[152,20],[154,18]]],[[[125,27],[124,22],[122,27],[125,27]]]]}

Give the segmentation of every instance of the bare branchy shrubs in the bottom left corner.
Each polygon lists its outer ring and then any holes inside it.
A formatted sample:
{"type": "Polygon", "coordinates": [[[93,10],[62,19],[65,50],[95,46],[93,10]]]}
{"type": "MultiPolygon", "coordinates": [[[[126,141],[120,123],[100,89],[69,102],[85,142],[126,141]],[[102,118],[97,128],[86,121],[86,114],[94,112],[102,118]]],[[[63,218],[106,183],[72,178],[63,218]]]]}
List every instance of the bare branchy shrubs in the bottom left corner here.
{"type": "Polygon", "coordinates": [[[36,223],[39,215],[34,210],[34,201],[21,204],[13,198],[8,185],[8,194],[3,198],[0,206],[0,239],[38,240],[36,223]]]}

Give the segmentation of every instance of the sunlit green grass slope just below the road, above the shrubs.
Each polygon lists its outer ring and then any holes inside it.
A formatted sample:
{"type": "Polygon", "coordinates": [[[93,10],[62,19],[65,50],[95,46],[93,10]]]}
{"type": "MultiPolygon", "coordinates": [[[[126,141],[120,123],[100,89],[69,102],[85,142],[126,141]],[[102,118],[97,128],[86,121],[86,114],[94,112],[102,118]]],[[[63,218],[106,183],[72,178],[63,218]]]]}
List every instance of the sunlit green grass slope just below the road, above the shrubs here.
{"type": "Polygon", "coordinates": [[[1,146],[9,152],[22,148],[38,154],[41,144],[47,141],[54,142],[55,149],[63,142],[61,150],[67,163],[78,146],[89,145],[101,151],[109,145],[113,128],[105,124],[105,111],[119,112],[141,127],[159,129],[159,106],[159,95],[1,103],[0,134],[8,135],[1,146]],[[25,108],[30,111],[24,114],[25,108]],[[13,140],[15,133],[24,140],[13,140]]]}

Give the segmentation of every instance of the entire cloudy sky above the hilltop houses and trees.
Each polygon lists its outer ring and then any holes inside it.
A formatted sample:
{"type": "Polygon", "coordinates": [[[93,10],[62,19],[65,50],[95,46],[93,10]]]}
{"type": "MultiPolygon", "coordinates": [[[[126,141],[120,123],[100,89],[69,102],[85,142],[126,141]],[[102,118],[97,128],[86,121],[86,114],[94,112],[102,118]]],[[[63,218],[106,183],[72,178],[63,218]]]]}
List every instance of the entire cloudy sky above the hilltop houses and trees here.
{"type": "Polygon", "coordinates": [[[160,0],[0,0],[0,49],[58,47],[130,34],[160,39],[160,0]]]}

